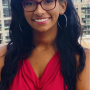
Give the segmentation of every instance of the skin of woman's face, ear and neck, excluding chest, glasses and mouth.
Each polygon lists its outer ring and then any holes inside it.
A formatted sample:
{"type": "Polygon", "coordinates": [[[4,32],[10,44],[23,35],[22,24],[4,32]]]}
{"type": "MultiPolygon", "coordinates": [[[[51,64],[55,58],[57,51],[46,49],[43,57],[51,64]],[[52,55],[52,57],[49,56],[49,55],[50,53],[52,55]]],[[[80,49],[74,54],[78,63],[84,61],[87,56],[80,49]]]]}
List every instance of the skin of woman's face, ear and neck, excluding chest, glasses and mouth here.
{"type": "MultiPolygon", "coordinates": [[[[38,0],[41,1],[41,0],[38,0]]],[[[66,2],[59,4],[56,2],[56,7],[51,11],[45,11],[40,5],[34,12],[24,11],[25,18],[30,26],[33,28],[33,37],[35,45],[39,44],[52,44],[57,35],[57,19],[59,15],[63,14],[66,10],[66,2]],[[38,19],[42,17],[50,18],[48,22],[44,25],[39,25],[33,19],[38,19]]]]}

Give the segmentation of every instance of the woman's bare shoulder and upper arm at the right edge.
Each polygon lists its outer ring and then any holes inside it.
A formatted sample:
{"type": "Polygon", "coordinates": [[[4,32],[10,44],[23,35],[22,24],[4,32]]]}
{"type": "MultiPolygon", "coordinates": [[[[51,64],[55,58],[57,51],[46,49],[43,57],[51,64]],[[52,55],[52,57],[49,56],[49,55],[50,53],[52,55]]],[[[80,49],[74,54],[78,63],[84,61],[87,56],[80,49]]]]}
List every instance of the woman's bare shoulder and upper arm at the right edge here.
{"type": "Polygon", "coordinates": [[[77,77],[76,90],[90,90],[90,49],[84,48],[86,54],[85,68],[77,77]]]}

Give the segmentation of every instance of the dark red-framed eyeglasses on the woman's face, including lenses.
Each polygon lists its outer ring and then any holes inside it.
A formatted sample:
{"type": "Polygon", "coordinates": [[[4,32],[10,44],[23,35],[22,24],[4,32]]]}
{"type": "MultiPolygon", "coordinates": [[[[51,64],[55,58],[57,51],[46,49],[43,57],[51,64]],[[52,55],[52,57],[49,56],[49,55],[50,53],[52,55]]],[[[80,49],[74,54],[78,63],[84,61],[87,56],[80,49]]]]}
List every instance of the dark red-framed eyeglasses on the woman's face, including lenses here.
{"type": "Polygon", "coordinates": [[[40,2],[36,2],[33,0],[25,0],[22,1],[22,6],[25,11],[33,12],[37,9],[37,6],[40,4],[44,10],[49,11],[56,7],[56,1],[57,0],[42,0],[40,2]]]}

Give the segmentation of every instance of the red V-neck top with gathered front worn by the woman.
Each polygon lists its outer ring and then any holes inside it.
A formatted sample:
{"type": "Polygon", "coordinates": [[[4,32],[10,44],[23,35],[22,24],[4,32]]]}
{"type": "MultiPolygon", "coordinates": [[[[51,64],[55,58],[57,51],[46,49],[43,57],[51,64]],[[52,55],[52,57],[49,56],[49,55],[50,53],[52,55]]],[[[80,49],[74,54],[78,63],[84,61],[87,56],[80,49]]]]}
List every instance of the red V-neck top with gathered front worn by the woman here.
{"type": "Polygon", "coordinates": [[[22,67],[9,90],[64,90],[59,52],[57,51],[50,59],[40,79],[37,78],[29,60],[23,60],[22,67]]]}

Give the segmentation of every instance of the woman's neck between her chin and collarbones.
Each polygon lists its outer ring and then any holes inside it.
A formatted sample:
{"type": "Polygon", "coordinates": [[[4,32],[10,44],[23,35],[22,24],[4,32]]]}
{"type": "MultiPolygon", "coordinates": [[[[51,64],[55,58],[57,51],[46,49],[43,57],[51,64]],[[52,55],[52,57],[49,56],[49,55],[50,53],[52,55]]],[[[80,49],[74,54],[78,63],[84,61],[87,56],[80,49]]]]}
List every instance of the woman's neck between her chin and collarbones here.
{"type": "Polygon", "coordinates": [[[50,47],[55,44],[55,39],[57,36],[57,26],[52,30],[47,30],[45,32],[33,31],[35,46],[50,47]]]}

